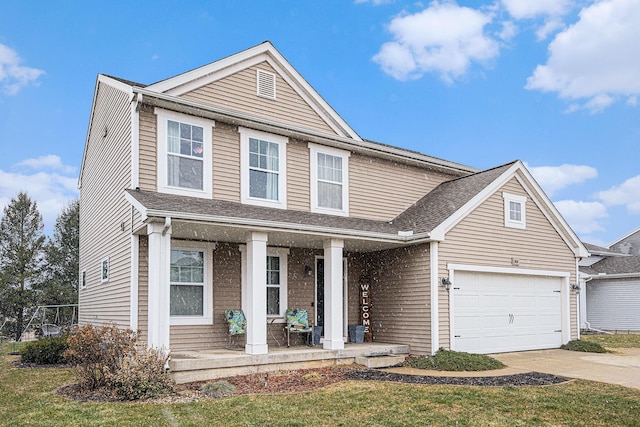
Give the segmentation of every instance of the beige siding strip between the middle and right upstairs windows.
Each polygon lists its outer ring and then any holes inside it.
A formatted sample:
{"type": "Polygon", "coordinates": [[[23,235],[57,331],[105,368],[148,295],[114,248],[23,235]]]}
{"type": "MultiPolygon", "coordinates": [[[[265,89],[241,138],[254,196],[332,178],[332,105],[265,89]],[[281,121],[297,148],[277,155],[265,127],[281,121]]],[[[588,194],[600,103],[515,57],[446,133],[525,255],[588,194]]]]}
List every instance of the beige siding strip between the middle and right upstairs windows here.
{"type": "Polygon", "coordinates": [[[311,210],[309,168],[308,144],[290,139],[287,144],[287,209],[311,210]]]}

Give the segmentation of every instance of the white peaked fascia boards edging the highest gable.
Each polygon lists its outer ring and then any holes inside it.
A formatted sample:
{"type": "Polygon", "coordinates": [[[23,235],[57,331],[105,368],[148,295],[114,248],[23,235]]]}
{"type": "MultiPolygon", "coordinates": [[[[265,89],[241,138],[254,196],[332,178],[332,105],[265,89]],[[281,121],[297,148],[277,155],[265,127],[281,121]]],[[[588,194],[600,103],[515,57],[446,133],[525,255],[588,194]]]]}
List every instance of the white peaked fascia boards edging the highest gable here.
{"type": "Polygon", "coordinates": [[[362,140],[270,42],[264,42],[235,55],[147,86],[146,89],[180,96],[265,61],[278,71],[280,76],[337,134],[350,137],[356,141],[362,140]]]}

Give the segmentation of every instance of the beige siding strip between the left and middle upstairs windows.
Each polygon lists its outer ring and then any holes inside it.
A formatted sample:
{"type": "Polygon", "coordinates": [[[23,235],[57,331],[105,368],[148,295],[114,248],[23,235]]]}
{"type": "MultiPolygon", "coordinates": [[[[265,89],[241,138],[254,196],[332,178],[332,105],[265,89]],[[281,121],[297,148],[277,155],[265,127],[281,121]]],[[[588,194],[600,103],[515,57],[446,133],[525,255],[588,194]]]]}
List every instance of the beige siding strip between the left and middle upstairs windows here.
{"type": "Polygon", "coordinates": [[[213,128],[213,198],[240,202],[240,134],[222,122],[213,128]]]}

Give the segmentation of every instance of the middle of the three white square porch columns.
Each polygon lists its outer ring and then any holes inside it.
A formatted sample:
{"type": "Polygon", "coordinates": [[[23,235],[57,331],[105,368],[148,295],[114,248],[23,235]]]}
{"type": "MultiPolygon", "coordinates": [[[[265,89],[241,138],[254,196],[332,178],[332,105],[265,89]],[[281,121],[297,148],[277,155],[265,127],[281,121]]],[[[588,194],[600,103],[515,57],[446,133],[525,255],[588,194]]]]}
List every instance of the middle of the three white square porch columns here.
{"type": "Polygon", "coordinates": [[[247,234],[247,354],[267,354],[267,233],[247,234]]]}

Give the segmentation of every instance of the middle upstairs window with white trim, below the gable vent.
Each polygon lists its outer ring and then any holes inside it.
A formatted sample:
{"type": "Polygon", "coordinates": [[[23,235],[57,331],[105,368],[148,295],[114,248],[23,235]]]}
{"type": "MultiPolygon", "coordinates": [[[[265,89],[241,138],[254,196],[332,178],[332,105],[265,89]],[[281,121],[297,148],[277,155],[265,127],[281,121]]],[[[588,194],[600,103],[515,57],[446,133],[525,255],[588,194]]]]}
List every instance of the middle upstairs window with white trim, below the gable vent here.
{"type": "Polygon", "coordinates": [[[286,209],[287,138],[239,129],[242,203],[286,209]]]}

